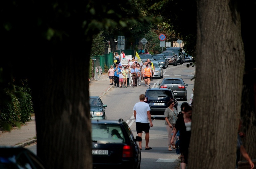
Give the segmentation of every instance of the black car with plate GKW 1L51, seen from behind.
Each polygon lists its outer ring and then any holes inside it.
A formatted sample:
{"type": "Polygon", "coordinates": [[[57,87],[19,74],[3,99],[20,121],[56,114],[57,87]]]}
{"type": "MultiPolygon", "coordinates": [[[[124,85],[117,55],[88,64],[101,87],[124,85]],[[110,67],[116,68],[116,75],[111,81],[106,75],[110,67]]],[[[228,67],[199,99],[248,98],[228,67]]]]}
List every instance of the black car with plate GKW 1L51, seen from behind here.
{"type": "MultiPolygon", "coordinates": [[[[160,84],[157,84],[160,86],[160,84]]],[[[149,104],[151,115],[164,115],[165,109],[168,107],[167,103],[173,99],[174,107],[177,109],[178,102],[174,96],[172,89],[149,87],[145,92],[144,102],[149,104]]]]}

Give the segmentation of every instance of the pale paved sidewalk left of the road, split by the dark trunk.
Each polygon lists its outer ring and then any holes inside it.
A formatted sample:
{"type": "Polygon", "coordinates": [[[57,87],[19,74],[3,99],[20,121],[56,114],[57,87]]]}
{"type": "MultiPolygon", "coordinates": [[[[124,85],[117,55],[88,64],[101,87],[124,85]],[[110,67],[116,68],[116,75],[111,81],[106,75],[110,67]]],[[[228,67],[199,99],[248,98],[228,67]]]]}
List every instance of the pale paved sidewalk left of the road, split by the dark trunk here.
{"type": "MultiPolygon", "coordinates": [[[[113,85],[110,85],[107,74],[101,75],[97,80],[91,79],[89,82],[89,94],[103,96],[113,85]]],[[[31,121],[20,128],[16,127],[10,132],[0,131],[0,146],[24,147],[36,142],[35,116],[31,116],[31,121]]]]}

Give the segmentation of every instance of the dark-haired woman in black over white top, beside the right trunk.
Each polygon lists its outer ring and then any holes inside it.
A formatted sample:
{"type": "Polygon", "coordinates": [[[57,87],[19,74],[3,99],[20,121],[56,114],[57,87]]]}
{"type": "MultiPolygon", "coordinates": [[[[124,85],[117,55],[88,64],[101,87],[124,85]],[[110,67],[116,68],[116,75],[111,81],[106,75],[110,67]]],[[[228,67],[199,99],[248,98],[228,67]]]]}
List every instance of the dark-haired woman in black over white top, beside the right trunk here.
{"type": "Polygon", "coordinates": [[[180,152],[181,152],[181,169],[185,169],[188,162],[188,146],[191,136],[191,122],[192,122],[192,107],[186,106],[184,108],[183,116],[178,116],[178,119],[173,129],[173,137],[171,145],[173,145],[173,138],[176,136],[178,130],[180,131],[180,152]]]}

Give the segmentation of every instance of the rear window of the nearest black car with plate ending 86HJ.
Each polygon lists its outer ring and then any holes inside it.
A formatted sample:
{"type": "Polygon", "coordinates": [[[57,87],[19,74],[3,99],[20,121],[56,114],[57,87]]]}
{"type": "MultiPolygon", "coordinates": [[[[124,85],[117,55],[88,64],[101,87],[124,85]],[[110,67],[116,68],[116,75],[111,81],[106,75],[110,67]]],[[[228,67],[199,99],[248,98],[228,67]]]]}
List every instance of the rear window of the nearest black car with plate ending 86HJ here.
{"type": "Polygon", "coordinates": [[[121,127],[111,124],[92,124],[92,142],[124,143],[125,138],[121,127]]]}

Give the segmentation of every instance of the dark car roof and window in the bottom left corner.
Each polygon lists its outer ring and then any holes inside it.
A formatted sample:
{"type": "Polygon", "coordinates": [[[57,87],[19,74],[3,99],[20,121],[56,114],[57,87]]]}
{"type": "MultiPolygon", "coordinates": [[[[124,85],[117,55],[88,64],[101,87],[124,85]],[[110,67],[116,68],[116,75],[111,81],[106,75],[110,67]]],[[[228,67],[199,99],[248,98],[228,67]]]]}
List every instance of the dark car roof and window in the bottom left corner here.
{"type": "Polygon", "coordinates": [[[46,165],[26,148],[0,147],[0,168],[45,169],[46,165]]]}

